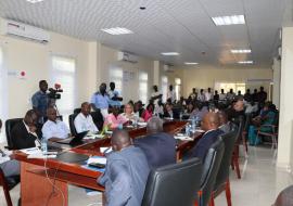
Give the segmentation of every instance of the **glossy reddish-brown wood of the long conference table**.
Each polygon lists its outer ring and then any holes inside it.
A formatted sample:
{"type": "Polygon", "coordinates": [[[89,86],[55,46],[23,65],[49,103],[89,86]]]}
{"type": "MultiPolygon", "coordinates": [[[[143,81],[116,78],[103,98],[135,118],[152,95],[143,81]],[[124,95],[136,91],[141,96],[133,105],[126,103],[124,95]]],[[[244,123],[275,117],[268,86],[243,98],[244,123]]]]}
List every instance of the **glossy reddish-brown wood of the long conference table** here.
{"type": "MultiPolygon", "coordinates": [[[[164,131],[177,133],[187,121],[165,121],[164,131]]],[[[127,129],[131,138],[146,134],[146,128],[127,129]]],[[[194,134],[194,141],[178,141],[177,158],[193,146],[201,133],[194,134]]],[[[69,149],[68,153],[88,156],[103,156],[100,147],[110,146],[111,139],[89,140],[85,144],[69,149]]],[[[21,196],[23,206],[68,205],[68,184],[85,186],[103,192],[104,188],[97,183],[101,172],[81,167],[78,163],[65,163],[54,158],[27,158],[27,155],[15,151],[14,156],[21,162],[21,196]]]]}

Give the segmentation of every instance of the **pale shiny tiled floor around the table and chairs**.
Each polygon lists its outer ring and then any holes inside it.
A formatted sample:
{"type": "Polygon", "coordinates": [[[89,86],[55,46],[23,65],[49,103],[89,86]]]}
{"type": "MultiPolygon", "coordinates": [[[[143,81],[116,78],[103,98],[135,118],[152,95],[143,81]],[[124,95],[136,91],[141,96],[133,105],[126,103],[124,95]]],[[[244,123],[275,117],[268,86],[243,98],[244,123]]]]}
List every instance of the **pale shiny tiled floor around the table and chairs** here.
{"type": "MultiPolygon", "coordinates": [[[[234,206],[270,206],[278,193],[293,183],[292,177],[281,170],[277,170],[272,162],[273,152],[265,147],[250,147],[246,168],[242,158],[242,179],[238,180],[234,171],[230,173],[232,205],[234,206]]],[[[20,185],[11,191],[11,196],[16,205],[20,194],[20,185]]],[[[226,206],[225,193],[216,197],[216,206],[226,206]]],[[[0,205],[4,206],[2,190],[0,205]]],[[[99,206],[101,195],[87,196],[84,189],[69,186],[69,206],[99,206]]]]}

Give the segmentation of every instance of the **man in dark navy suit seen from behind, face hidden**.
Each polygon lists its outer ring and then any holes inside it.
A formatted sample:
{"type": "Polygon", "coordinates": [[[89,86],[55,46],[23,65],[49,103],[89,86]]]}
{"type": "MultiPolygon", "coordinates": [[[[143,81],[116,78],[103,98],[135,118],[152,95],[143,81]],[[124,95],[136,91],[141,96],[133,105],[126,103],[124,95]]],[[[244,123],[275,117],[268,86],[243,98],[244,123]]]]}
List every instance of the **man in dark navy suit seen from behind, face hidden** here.
{"type": "Polygon", "coordinates": [[[169,133],[163,131],[163,121],[158,117],[152,117],[146,125],[148,136],[135,140],[145,154],[151,168],[176,163],[176,140],[169,133]]]}

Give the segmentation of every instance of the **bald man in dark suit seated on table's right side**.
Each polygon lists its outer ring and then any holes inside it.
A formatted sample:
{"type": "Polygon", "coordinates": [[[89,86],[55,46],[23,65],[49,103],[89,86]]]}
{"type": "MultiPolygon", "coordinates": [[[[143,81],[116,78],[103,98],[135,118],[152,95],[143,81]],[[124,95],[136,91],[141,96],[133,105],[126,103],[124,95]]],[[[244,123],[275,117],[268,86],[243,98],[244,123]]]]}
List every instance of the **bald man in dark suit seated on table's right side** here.
{"type": "Polygon", "coordinates": [[[191,149],[190,157],[199,157],[203,163],[209,147],[217,141],[220,134],[224,134],[219,128],[219,116],[217,113],[207,113],[202,120],[204,136],[198,144],[191,149]]]}

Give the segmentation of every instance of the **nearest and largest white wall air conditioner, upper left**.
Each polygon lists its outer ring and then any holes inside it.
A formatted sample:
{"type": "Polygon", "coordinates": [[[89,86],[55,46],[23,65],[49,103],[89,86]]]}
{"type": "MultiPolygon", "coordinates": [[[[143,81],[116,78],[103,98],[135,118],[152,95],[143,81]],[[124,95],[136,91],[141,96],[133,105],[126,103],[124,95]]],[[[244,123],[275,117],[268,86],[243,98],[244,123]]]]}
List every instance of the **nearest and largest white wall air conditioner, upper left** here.
{"type": "Polygon", "coordinates": [[[47,30],[10,20],[1,21],[0,31],[1,35],[21,37],[40,43],[50,41],[50,34],[47,30]]]}

